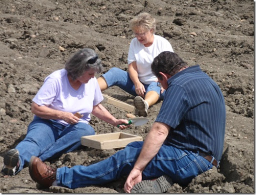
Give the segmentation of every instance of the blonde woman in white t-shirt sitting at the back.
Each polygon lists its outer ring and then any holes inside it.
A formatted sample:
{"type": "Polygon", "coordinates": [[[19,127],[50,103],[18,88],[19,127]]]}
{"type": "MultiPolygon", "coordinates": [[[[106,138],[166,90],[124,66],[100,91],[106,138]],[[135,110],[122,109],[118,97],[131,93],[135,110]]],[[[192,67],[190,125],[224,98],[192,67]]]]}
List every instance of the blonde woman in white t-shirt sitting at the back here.
{"type": "Polygon", "coordinates": [[[151,63],[160,52],[171,51],[172,46],[165,38],[155,35],[155,18],[142,12],[130,20],[135,38],[130,42],[128,52],[128,72],[113,67],[97,80],[100,89],[116,85],[136,96],[134,105],[140,116],[147,115],[147,109],[159,98],[163,98],[161,87],[151,71],[151,63]]]}

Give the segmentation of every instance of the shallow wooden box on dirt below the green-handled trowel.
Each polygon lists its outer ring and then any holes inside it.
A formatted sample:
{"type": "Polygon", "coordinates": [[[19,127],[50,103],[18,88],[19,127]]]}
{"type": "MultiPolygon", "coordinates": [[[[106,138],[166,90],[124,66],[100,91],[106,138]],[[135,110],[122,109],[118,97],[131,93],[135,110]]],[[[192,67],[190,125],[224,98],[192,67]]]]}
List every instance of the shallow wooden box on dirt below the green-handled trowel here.
{"type": "Polygon", "coordinates": [[[142,141],[142,137],[125,132],[112,132],[81,137],[82,145],[96,149],[125,147],[132,141],[142,141]]]}

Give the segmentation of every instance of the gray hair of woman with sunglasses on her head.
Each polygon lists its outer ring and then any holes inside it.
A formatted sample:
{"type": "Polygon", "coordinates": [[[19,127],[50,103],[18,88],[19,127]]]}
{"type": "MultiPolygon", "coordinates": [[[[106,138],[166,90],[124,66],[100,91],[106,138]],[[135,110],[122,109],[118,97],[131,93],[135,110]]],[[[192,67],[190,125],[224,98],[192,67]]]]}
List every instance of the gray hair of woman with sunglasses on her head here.
{"type": "Polygon", "coordinates": [[[90,48],[83,48],[77,51],[65,63],[67,75],[70,75],[73,80],[90,68],[95,69],[97,73],[103,69],[101,60],[98,58],[96,52],[90,48]]]}

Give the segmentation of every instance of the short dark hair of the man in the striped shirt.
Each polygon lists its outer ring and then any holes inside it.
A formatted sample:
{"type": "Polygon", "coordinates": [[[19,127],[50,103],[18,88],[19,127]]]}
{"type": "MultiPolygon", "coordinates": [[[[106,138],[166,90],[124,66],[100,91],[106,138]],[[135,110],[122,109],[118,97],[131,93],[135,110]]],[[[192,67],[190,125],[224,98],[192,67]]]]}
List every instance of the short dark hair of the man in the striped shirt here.
{"type": "Polygon", "coordinates": [[[186,62],[184,62],[176,53],[163,51],[154,58],[151,64],[151,69],[153,74],[161,79],[162,77],[159,72],[167,73],[172,76],[177,73],[180,68],[186,66],[186,62]]]}

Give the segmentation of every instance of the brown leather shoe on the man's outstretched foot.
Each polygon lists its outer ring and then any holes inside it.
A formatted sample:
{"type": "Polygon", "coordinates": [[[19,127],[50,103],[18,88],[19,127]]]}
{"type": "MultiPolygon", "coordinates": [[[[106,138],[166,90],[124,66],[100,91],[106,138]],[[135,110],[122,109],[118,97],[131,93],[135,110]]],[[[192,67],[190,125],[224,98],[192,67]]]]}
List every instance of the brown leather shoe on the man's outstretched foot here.
{"type": "Polygon", "coordinates": [[[56,180],[56,169],[47,166],[36,156],[30,158],[29,174],[42,187],[49,187],[56,180]]]}

